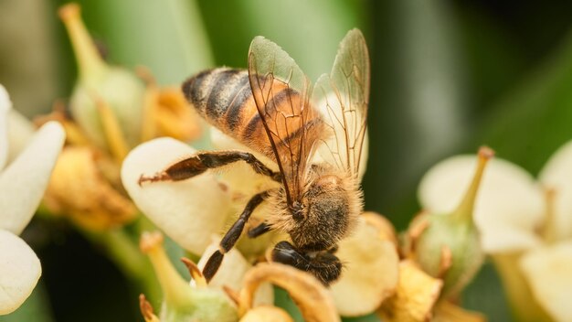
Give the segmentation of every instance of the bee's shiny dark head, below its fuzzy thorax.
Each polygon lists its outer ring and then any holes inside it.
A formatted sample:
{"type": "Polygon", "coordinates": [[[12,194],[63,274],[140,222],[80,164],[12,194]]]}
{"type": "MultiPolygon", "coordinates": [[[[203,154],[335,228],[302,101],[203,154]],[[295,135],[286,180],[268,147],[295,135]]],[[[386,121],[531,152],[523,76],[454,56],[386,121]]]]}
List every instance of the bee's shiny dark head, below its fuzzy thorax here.
{"type": "Polygon", "coordinates": [[[281,241],[274,246],[272,261],[313,274],[324,285],[334,282],[342,274],[342,262],[333,253],[317,252],[310,256],[288,241],[281,241]]]}

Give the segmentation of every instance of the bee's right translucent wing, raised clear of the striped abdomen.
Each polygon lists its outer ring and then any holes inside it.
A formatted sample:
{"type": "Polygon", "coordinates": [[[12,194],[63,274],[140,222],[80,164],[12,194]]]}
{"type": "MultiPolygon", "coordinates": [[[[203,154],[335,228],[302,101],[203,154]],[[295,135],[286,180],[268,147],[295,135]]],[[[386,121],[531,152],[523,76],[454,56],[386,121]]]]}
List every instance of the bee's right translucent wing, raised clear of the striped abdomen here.
{"type": "Polygon", "coordinates": [[[369,55],[362,33],[350,30],[340,43],[330,75],[314,86],[312,103],[334,134],[318,143],[316,157],[360,177],[367,153],[369,55]]]}

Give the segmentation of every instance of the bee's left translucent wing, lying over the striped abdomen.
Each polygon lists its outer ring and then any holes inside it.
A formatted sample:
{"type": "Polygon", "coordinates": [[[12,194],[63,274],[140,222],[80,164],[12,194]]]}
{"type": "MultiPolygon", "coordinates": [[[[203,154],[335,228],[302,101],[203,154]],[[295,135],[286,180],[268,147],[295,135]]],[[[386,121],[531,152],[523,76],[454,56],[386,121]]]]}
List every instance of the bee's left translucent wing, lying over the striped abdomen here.
{"type": "Polygon", "coordinates": [[[323,132],[319,113],[309,105],[310,81],[282,48],[262,37],[250,44],[249,81],[291,205],[300,196],[312,145],[323,132]]]}

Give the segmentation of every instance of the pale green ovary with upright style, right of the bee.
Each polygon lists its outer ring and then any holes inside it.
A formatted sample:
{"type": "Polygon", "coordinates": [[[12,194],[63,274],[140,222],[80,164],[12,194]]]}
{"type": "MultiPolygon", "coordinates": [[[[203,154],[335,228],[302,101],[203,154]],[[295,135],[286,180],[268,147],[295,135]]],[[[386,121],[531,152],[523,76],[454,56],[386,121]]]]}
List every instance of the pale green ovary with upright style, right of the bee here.
{"type": "Polygon", "coordinates": [[[482,147],[471,185],[450,214],[422,213],[408,230],[412,256],[428,274],[443,279],[442,298],[459,295],[482,265],[484,253],[473,208],[482,174],[493,151],[482,147]]]}

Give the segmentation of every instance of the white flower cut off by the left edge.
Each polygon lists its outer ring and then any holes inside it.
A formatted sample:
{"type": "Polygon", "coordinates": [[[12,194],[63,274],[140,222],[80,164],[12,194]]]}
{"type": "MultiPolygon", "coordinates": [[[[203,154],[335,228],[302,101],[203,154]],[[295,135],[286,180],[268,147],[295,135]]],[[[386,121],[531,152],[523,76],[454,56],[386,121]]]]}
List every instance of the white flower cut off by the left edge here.
{"type": "Polygon", "coordinates": [[[14,156],[27,141],[30,125],[11,108],[0,85],[0,315],[22,305],[41,274],[36,253],[18,235],[44,195],[65,139],[58,123],[46,123],[14,156]]]}

